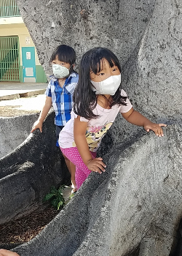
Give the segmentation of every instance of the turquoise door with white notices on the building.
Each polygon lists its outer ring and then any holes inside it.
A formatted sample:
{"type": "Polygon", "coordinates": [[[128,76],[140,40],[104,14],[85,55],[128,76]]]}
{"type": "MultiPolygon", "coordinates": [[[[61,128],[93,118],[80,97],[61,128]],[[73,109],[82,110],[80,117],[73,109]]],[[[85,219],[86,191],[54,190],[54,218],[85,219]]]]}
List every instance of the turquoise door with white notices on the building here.
{"type": "Polygon", "coordinates": [[[22,48],[23,82],[36,83],[36,58],[34,47],[22,48]]]}

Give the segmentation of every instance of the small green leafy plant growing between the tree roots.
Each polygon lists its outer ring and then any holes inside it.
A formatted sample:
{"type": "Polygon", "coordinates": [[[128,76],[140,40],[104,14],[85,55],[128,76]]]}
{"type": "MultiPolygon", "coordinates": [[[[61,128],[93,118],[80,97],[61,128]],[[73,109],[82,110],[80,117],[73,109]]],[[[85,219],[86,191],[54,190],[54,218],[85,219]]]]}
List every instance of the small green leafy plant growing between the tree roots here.
{"type": "Polygon", "coordinates": [[[54,186],[51,187],[50,193],[45,195],[43,201],[45,202],[50,200],[52,206],[57,210],[59,210],[60,207],[63,208],[63,206],[65,205],[65,200],[63,197],[62,189],[64,189],[64,187],[65,186],[61,186],[59,189],[56,189],[54,186]]]}

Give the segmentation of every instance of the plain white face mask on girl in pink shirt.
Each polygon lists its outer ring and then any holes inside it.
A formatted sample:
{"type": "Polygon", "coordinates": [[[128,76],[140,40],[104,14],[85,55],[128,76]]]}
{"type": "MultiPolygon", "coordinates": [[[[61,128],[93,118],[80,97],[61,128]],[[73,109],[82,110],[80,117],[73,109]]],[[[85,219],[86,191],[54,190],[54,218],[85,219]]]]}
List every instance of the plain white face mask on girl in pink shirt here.
{"type": "Polygon", "coordinates": [[[121,84],[121,74],[120,75],[111,75],[111,77],[106,78],[101,82],[94,82],[91,80],[92,91],[95,91],[95,94],[108,94],[114,95],[121,84]]]}

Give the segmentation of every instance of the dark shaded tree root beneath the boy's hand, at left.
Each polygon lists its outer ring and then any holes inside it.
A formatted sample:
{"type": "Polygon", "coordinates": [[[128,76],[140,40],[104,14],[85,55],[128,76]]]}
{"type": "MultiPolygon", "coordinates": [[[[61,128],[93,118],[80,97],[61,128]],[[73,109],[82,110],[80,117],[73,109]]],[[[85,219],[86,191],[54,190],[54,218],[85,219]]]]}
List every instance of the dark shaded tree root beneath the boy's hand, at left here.
{"type": "MultiPolygon", "coordinates": [[[[53,185],[70,180],[60,148],[55,146],[54,117],[55,113],[47,117],[42,133],[31,133],[0,159],[0,225],[42,207],[53,185]]],[[[19,121],[23,126],[23,117],[19,121]]]]}

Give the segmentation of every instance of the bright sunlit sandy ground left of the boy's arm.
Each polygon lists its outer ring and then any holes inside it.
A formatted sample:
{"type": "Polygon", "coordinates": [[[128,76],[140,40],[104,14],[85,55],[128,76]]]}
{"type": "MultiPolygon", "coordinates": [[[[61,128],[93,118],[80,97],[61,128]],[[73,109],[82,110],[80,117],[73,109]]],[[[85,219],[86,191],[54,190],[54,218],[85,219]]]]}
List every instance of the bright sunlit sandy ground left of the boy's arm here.
{"type": "Polygon", "coordinates": [[[44,105],[45,95],[0,101],[0,117],[22,116],[28,113],[39,113],[44,105]]]}

